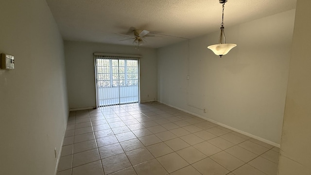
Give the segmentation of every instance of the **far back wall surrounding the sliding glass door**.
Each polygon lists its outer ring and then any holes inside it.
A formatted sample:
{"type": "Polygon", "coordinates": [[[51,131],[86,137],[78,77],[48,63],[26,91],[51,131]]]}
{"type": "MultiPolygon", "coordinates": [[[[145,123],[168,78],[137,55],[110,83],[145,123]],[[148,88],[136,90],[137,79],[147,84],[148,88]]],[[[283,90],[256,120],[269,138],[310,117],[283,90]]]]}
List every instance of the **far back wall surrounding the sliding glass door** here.
{"type": "Polygon", "coordinates": [[[96,106],[93,53],[138,54],[140,58],[140,100],[157,97],[156,50],[90,42],[65,41],[69,108],[96,106]]]}

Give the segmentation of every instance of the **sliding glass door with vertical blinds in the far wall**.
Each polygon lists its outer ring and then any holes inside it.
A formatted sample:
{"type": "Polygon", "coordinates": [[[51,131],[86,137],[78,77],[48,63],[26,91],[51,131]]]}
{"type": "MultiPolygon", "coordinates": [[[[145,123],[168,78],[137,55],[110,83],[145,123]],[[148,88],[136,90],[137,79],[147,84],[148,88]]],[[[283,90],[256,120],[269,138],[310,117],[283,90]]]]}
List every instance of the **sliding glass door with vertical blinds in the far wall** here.
{"type": "Polygon", "coordinates": [[[98,106],[139,102],[139,60],[96,56],[98,106]]]}

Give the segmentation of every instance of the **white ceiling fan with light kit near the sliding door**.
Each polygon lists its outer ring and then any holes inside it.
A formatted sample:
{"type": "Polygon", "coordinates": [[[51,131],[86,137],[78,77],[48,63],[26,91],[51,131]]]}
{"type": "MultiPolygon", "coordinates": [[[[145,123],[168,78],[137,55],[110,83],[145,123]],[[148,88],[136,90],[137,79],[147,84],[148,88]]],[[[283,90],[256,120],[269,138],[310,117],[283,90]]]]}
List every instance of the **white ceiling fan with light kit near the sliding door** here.
{"type": "Polygon", "coordinates": [[[127,36],[125,39],[121,39],[119,41],[124,41],[124,40],[133,40],[133,43],[135,44],[135,48],[139,50],[139,44],[142,42],[147,42],[144,37],[161,37],[161,36],[155,36],[155,35],[148,35],[150,32],[147,30],[141,30],[141,29],[134,29],[133,34],[134,35],[124,35],[124,34],[117,34],[117,35],[122,35],[122,36],[127,36]]]}

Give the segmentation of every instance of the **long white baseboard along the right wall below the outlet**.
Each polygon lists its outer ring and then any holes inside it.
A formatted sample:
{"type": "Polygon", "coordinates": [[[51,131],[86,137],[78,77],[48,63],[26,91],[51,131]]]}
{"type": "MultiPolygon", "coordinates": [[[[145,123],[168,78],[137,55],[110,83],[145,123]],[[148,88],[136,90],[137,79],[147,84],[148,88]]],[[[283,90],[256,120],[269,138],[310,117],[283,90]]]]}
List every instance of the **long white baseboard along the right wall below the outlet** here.
{"type": "Polygon", "coordinates": [[[173,108],[175,108],[175,109],[178,109],[178,110],[181,110],[181,111],[184,111],[184,112],[187,112],[187,113],[189,113],[189,114],[191,114],[191,115],[194,115],[194,116],[196,116],[196,117],[200,117],[201,119],[207,120],[208,122],[218,124],[218,125],[223,126],[223,127],[225,127],[225,128],[228,128],[228,129],[231,129],[231,130],[236,131],[236,132],[238,132],[238,133],[241,133],[241,134],[243,134],[243,135],[245,135],[245,136],[251,137],[251,138],[256,139],[256,140],[260,140],[260,141],[262,141],[262,142],[265,142],[265,143],[268,143],[268,144],[270,144],[270,145],[273,145],[273,146],[275,146],[275,147],[280,148],[280,144],[278,144],[278,143],[276,143],[276,142],[263,139],[263,138],[261,138],[261,137],[259,137],[259,136],[255,136],[255,135],[253,135],[253,134],[250,134],[250,133],[241,131],[241,130],[239,130],[239,129],[236,129],[236,128],[231,127],[231,126],[228,126],[228,125],[225,125],[225,124],[223,124],[223,123],[219,123],[219,122],[217,122],[217,121],[214,121],[214,120],[212,120],[212,119],[203,117],[203,116],[201,116],[201,115],[198,115],[198,114],[196,114],[196,113],[190,112],[190,111],[188,111],[188,110],[185,110],[185,109],[182,109],[182,108],[173,106],[173,105],[169,105],[169,104],[166,104],[166,103],[163,103],[163,102],[159,102],[159,103],[164,104],[164,105],[168,105],[168,106],[170,106],[170,107],[173,107],[173,108]]]}

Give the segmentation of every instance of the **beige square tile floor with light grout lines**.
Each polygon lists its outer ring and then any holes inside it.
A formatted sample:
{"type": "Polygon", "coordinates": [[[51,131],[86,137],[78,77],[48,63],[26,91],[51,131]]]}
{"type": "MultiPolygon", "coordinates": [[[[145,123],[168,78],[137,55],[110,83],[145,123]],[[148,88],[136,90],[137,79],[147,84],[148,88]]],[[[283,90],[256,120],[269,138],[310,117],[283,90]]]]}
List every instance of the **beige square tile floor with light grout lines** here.
{"type": "Polygon", "coordinates": [[[160,103],[70,112],[57,175],[276,175],[279,149],[160,103]]]}

